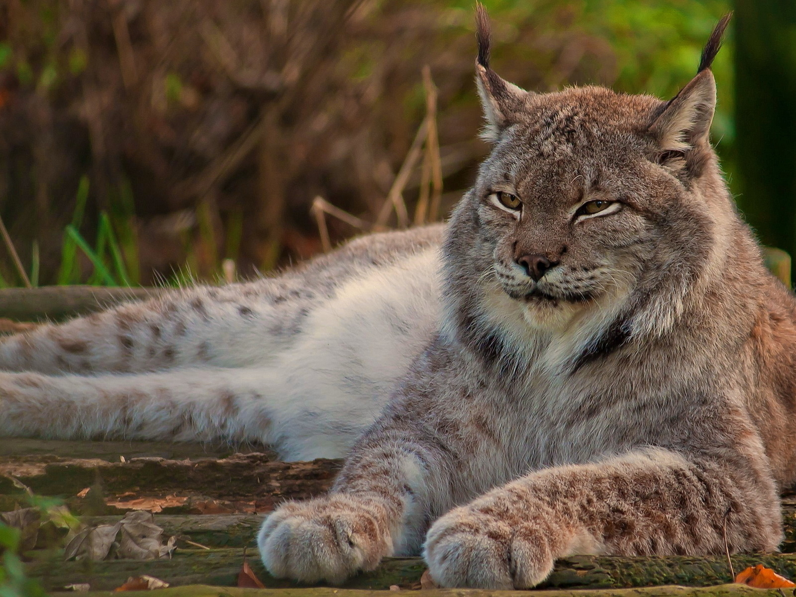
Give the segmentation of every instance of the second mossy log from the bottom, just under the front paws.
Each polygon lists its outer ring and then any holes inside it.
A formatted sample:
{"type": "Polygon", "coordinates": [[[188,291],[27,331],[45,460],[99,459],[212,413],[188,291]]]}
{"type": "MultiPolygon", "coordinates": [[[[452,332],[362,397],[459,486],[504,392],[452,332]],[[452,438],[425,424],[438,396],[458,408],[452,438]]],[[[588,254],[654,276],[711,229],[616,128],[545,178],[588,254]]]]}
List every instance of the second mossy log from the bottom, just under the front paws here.
{"type": "MultiPolygon", "coordinates": [[[[233,586],[244,561],[240,548],[178,549],[171,560],[108,560],[103,562],[64,562],[60,552],[42,554],[41,560],[27,564],[29,576],[39,579],[47,591],[72,583],[89,583],[96,590],[118,587],[128,576],[142,574],[165,580],[172,586],[213,584],[233,586]]],[[[268,575],[254,549],[248,562],[266,587],[298,587],[289,580],[268,575]]],[[[753,554],[732,556],[736,571],[764,564],[782,576],[796,577],[796,554],[753,554]]],[[[387,589],[392,585],[408,588],[419,582],[426,566],[419,558],[388,558],[373,572],[346,581],[342,587],[387,589]]],[[[705,587],[730,582],[725,556],[572,556],[556,563],[552,575],[540,588],[583,589],[649,587],[682,584],[705,587]]],[[[781,597],[781,596],[780,596],[781,597]]]]}

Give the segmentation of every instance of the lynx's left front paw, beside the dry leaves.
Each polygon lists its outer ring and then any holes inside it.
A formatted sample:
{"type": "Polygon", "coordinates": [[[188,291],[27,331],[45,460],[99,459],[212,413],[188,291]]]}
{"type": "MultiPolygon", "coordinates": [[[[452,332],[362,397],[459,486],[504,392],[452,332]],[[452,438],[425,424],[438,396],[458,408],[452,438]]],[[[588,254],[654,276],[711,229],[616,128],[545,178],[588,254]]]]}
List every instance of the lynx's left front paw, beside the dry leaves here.
{"type": "Polygon", "coordinates": [[[295,501],[265,519],[257,546],[277,578],[339,584],[392,554],[383,519],[377,503],[344,494],[295,501]]]}

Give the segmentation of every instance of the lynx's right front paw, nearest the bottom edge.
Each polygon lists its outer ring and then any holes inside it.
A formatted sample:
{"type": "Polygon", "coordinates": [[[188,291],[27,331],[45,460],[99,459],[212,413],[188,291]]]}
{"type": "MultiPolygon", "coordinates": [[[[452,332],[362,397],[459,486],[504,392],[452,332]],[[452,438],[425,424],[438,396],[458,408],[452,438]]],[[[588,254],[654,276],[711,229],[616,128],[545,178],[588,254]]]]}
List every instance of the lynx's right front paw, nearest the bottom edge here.
{"type": "Polygon", "coordinates": [[[431,578],[443,587],[528,588],[552,571],[544,535],[527,521],[517,525],[472,507],[456,508],[431,526],[423,555],[431,578]]]}

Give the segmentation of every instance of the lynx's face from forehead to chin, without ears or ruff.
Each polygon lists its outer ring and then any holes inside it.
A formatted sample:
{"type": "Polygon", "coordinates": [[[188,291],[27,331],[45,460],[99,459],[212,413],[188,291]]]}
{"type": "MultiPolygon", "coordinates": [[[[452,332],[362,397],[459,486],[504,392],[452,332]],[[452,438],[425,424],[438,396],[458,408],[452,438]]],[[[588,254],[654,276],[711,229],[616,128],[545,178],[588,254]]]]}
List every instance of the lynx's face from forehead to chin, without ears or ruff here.
{"type": "Polygon", "coordinates": [[[483,250],[494,279],[533,310],[625,295],[656,236],[646,187],[672,178],[654,162],[650,139],[622,124],[632,114],[595,119],[581,105],[584,91],[529,106],[526,122],[501,135],[473,197],[490,231],[483,250]]]}

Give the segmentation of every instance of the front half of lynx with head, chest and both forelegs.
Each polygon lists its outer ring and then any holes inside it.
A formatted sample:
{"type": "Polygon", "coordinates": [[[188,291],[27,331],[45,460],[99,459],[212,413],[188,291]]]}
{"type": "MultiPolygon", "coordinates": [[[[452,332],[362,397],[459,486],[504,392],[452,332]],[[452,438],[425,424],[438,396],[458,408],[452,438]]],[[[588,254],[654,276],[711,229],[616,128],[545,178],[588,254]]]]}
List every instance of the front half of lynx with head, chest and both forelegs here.
{"type": "Polygon", "coordinates": [[[525,92],[491,70],[486,23],[494,146],[451,217],[439,330],[329,497],[267,519],[265,564],[334,583],[422,551],[443,586],[510,589],[575,553],[721,553],[725,532],[774,550],[796,302],[708,142],[726,19],[669,102],[525,92]]]}

